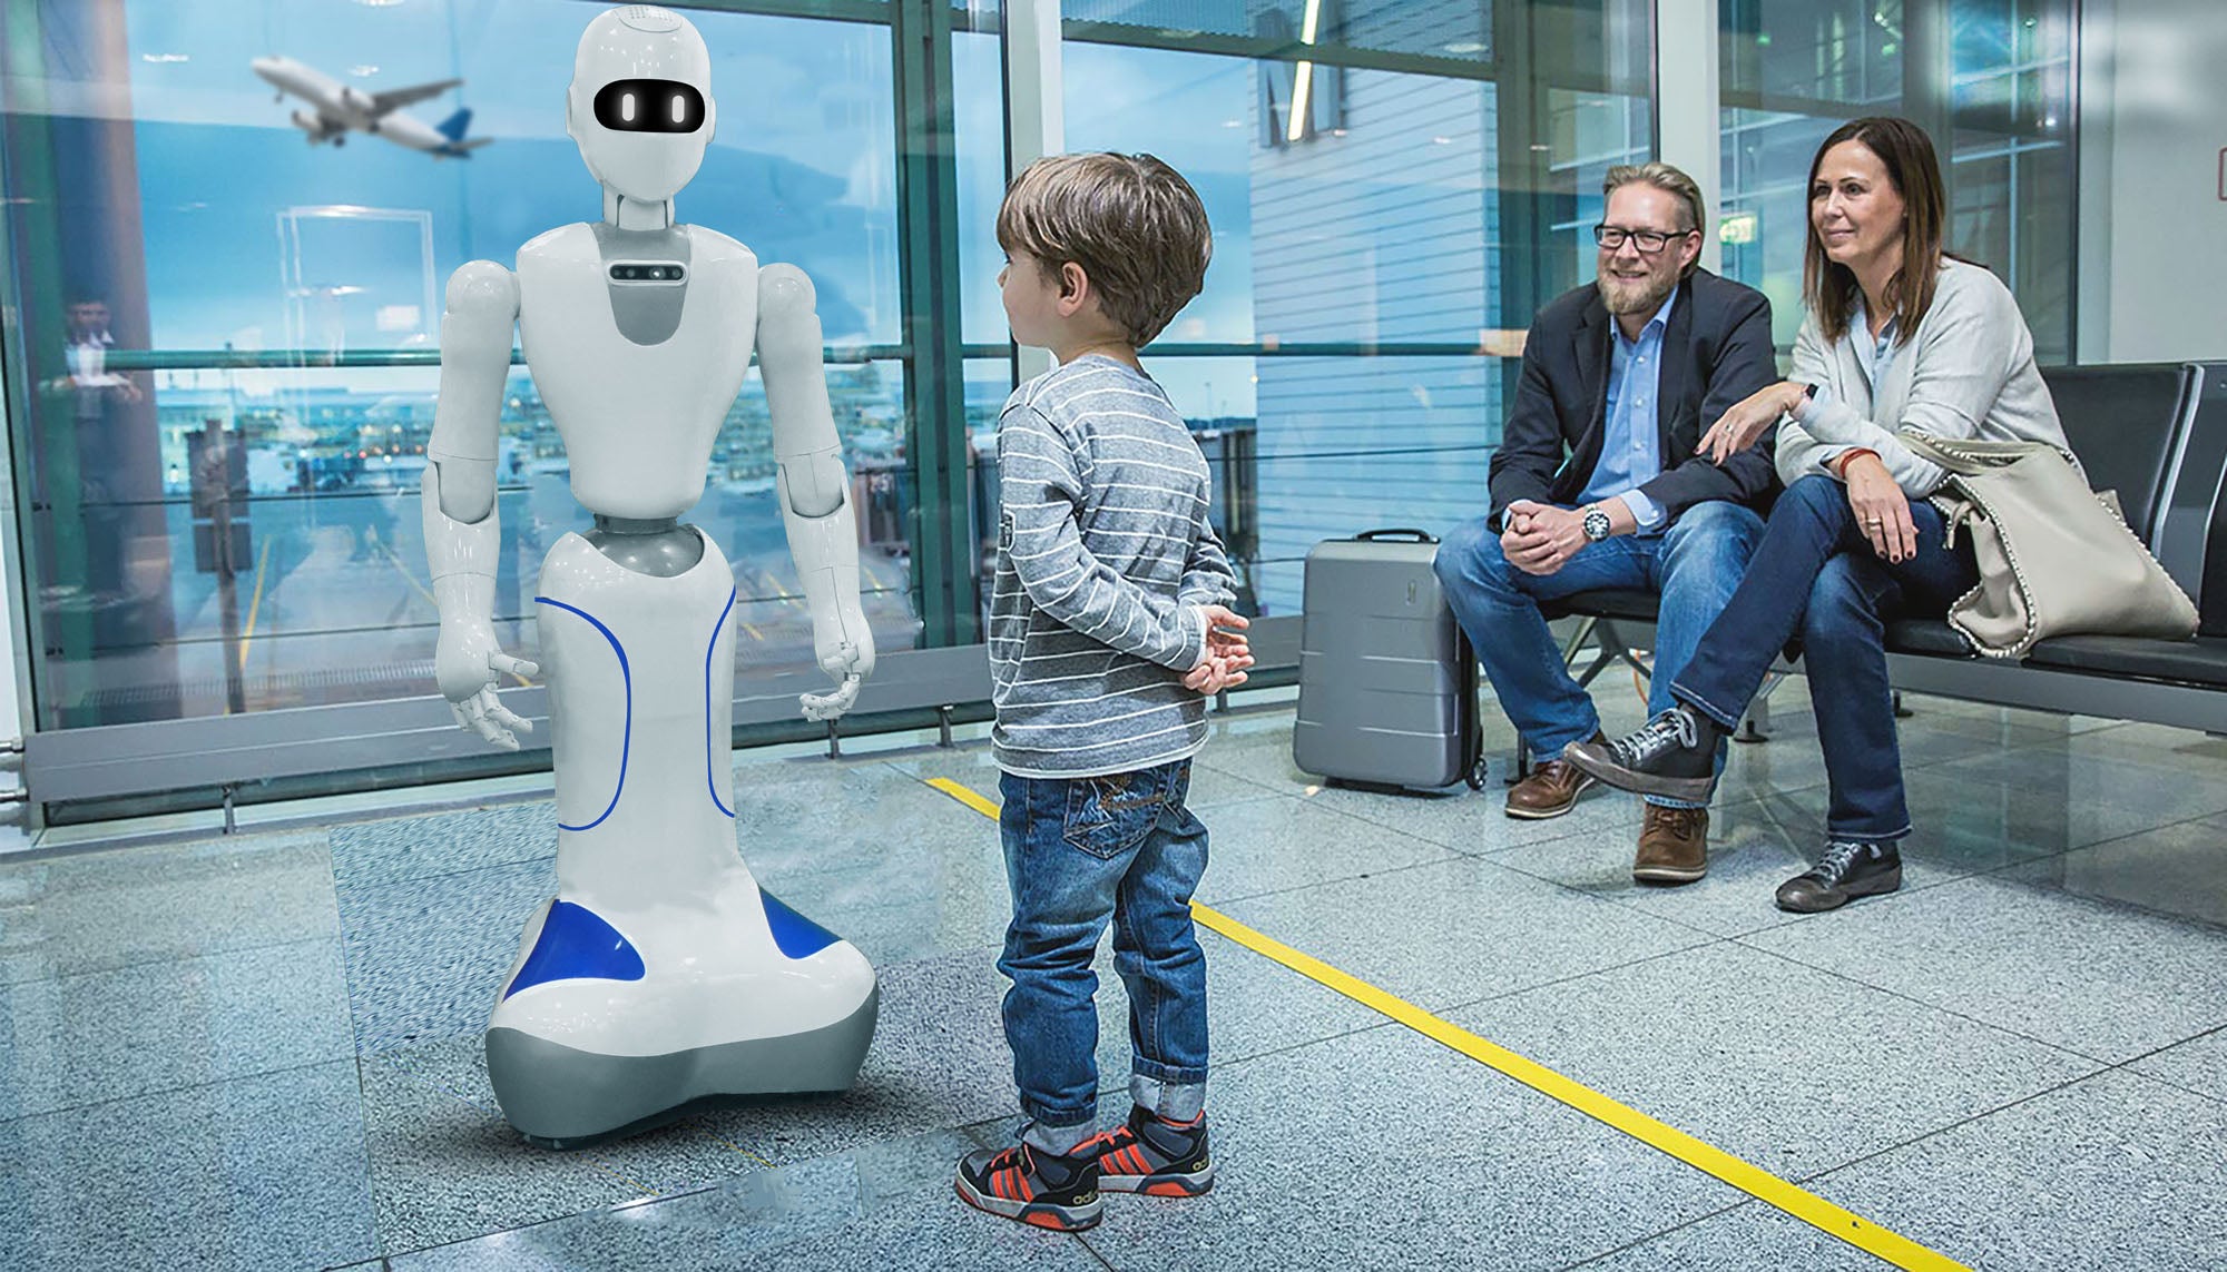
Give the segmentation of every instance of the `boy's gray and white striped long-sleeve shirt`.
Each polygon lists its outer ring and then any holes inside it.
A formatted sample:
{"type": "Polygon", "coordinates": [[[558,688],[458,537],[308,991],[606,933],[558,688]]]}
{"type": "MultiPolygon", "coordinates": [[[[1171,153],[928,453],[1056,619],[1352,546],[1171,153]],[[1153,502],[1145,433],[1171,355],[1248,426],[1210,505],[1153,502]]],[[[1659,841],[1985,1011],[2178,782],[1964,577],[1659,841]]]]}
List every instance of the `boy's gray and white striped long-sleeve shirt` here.
{"type": "Polygon", "coordinates": [[[1167,394],[1096,354],[1029,380],[998,418],[998,767],[1087,778],[1196,752],[1207,705],[1183,674],[1207,649],[1200,607],[1234,592],[1207,460],[1167,394]]]}

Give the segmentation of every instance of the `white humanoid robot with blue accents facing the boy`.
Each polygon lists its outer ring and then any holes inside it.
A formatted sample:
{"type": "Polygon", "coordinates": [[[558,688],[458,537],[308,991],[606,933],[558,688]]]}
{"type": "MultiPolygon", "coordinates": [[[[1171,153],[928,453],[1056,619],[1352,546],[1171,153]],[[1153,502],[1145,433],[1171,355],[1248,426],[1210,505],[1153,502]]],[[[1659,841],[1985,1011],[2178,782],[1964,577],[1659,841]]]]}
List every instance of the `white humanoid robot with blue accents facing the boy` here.
{"type": "Polygon", "coordinates": [[[848,1087],[880,992],[848,943],[764,896],[735,849],[735,580],[679,525],[753,336],[777,491],[833,694],[873,672],[857,531],[820,365],[813,285],[673,220],[717,109],[710,56],[677,13],[610,9],[572,62],[566,120],[604,220],[474,260],[448,282],[441,400],[425,465],[436,674],[457,721],[499,747],[528,723],[494,692],[541,667],[494,640],[494,456],[510,329],[595,514],[541,565],[534,596],[557,763],[557,896],[526,923],[488,1021],[488,1076],[530,1141],[572,1147],[724,1096],[848,1087]]]}

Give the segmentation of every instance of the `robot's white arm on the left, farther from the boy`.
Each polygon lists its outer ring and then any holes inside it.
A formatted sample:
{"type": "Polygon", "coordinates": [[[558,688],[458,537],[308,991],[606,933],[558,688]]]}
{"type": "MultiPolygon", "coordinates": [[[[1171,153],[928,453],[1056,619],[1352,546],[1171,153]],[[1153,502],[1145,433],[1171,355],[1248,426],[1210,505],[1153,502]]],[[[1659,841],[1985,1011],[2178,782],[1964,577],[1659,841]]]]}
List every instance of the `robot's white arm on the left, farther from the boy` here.
{"type": "Polygon", "coordinates": [[[448,280],[441,314],[441,396],[425,447],[425,563],[432,567],[441,643],[434,676],[457,723],[481,738],[519,749],[532,725],[501,705],[494,676],[532,676],[537,665],[494,643],[494,563],[501,534],[494,514],[494,436],[503,380],[510,376],[510,329],[519,318],[519,285],[492,260],[474,260],[448,280]]]}

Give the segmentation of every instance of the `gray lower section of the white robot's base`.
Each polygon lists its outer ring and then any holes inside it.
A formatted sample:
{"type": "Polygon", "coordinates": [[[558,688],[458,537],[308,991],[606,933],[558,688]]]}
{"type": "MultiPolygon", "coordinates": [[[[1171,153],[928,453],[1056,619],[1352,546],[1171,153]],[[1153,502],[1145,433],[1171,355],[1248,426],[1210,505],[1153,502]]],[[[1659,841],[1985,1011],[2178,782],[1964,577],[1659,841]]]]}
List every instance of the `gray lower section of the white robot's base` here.
{"type": "Polygon", "coordinates": [[[848,1090],[866,1061],[880,985],[846,1018],[808,1034],[601,1056],[521,1030],[488,1030],[488,1076],[503,1119],[528,1143],[575,1150],[653,1130],[693,1112],[764,1096],[848,1090]]]}

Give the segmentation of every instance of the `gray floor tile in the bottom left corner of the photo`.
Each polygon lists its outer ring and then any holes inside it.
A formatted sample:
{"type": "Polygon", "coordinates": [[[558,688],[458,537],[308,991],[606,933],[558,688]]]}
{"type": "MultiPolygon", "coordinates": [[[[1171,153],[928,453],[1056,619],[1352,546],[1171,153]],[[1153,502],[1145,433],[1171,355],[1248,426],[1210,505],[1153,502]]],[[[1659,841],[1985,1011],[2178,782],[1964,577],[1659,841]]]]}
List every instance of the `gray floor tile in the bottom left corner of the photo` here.
{"type": "Polygon", "coordinates": [[[350,1061],[0,1123],[0,1268],[374,1256],[350,1061]]]}

